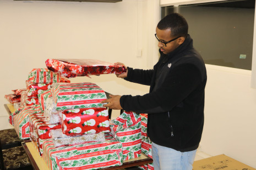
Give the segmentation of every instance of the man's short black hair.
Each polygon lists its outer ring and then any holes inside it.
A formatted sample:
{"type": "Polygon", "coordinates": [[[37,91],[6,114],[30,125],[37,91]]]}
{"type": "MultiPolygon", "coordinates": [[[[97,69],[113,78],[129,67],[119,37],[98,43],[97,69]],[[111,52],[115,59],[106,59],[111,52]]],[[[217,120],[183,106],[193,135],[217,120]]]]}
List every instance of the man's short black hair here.
{"type": "Polygon", "coordinates": [[[157,24],[159,30],[171,29],[172,37],[187,37],[188,35],[188,23],[186,19],[178,13],[171,13],[166,15],[157,24]]]}

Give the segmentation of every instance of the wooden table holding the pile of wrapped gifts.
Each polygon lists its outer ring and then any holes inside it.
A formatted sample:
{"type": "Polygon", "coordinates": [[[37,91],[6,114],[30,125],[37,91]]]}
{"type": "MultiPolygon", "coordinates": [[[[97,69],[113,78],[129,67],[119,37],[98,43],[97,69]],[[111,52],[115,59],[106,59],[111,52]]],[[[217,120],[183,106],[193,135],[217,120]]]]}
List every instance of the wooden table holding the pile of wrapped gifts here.
{"type": "MultiPolygon", "coordinates": [[[[6,108],[8,114],[14,112],[13,104],[4,104],[4,107],[6,108]]],[[[37,152],[34,144],[32,144],[30,140],[25,140],[21,145],[26,151],[26,154],[28,154],[31,165],[35,170],[50,170],[48,169],[48,166],[46,165],[45,161],[42,157],[40,157],[39,152],[37,152]]],[[[138,165],[144,165],[146,163],[152,162],[153,160],[150,157],[141,153],[141,156],[138,158],[133,158],[131,160],[124,161],[122,166],[108,167],[104,168],[104,170],[123,169],[138,165]]]]}

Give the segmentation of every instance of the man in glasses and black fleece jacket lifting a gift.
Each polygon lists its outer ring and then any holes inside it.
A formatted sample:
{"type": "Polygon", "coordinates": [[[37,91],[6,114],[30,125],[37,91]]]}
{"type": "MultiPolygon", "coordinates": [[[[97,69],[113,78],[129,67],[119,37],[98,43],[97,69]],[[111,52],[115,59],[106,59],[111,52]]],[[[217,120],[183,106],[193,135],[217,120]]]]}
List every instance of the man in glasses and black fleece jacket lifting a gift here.
{"type": "MultiPolygon", "coordinates": [[[[160,59],[153,70],[127,67],[117,75],[127,81],[150,85],[145,95],[112,95],[104,105],[148,114],[154,168],[192,169],[204,124],[206,69],[193,48],[188,24],[172,13],[156,27],[160,59]]],[[[121,64],[121,63],[116,63],[121,64]]],[[[122,65],[122,64],[121,64],[122,65]]]]}

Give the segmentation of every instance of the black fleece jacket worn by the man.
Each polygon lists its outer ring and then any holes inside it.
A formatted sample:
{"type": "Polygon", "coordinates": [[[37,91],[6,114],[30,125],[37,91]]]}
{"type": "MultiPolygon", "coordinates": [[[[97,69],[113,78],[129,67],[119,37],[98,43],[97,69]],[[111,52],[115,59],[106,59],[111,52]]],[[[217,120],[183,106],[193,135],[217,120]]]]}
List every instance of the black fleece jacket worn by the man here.
{"type": "Polygon", "coordinates": [[[148,114],[148,135],[154,143],[182,152],[195,150],[204,125],[204,61],[190,36],[173,52],[159,52],[154,70],[128,67],[125,80],[150,85],[150,92],[123,95],[121,106],[148,114]]]}

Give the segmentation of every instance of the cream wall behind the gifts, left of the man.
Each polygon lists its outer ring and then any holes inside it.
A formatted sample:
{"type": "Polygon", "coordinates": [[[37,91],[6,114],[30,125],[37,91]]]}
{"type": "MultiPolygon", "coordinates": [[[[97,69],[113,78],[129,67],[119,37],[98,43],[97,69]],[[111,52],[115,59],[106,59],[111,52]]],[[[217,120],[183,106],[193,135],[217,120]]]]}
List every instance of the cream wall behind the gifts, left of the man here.
{"type": "MultiPolygon", "coordinates": [[[[0,129],[9,128],[4,95],[12,93],[12,89],[25,88],[28,73],[46,67],[48,58],[94,58],[148,67],[146,55],[148,42],[152,40],[143,39],[152,30],[145,26],[151,19],[148,8],[152,5],[137,0],[118,3],[0,0],[0,129]]],[[[115,75],[71,81],[94,82],[113,94],[144,94],[149,90],[115,75]]]]}

